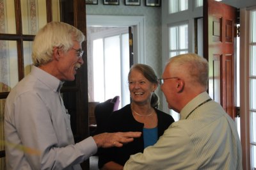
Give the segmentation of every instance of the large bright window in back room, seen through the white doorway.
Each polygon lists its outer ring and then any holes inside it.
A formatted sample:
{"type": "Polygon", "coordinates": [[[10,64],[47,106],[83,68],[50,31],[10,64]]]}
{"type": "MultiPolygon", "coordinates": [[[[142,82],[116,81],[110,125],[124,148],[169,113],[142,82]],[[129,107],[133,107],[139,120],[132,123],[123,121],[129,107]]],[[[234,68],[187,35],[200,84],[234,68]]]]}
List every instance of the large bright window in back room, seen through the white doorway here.
{"type": "Polygon", "coordinates": [[[127,84],[130,69],[127,32],[128,27],[115,27],[91,35],[92,63],[88,61],[88,65],[93,65],[93,72],[88,76],[91,102],[104,102],[118,95],[121,104],[119,107],[130,103],[127,84]],[[93,90],[90,90],[90,86],[93,90]]]}

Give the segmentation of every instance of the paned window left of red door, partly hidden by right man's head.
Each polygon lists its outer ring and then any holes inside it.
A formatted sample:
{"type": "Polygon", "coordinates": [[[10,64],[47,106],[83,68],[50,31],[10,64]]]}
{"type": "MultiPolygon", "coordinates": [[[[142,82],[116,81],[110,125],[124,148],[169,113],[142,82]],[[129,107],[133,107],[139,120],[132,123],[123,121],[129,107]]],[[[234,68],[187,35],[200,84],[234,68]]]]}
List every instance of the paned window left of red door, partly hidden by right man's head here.
{"type": "MultiPolygon", "coordinates": [[[[169,27],[169,57],[185,54],[188,52],[188,24],[169,27]]],[[[170,110],[173,119],[179,120],[179,114],[170,110]]]]}

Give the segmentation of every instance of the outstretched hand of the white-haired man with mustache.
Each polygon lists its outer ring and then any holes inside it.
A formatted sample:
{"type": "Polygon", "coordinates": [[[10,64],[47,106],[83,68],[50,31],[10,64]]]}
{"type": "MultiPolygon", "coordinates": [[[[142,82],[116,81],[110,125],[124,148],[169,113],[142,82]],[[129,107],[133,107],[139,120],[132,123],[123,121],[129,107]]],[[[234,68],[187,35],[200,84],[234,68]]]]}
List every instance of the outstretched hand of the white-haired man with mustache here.
{"type": "Polygon", "coordinates": [[[131,143],[134,137],[140,137],[141,132],[116,132],[94,135],[93,139],[98,148],[122,147],[123,144],[131,143]]]}

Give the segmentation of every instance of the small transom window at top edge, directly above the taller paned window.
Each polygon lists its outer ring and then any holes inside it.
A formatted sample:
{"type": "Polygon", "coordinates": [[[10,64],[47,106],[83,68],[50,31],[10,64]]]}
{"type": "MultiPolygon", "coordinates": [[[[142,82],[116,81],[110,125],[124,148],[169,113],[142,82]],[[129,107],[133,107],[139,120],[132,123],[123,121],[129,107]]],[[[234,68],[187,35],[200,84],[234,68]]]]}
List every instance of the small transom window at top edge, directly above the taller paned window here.
{"type": "Polygon", "coordinates": [[[188,0],[169,0],[169,4],[169,13],[176,13],[188,10],[188,0]]]}

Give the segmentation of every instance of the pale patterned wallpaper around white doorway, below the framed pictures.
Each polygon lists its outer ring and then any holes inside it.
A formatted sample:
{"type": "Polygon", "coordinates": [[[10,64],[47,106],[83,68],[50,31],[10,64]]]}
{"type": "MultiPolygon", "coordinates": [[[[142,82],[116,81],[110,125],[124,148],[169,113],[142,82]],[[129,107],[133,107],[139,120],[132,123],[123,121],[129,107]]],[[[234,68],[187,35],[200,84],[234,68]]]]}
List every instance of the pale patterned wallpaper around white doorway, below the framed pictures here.
{"type": "MultiPolygon", "coordinates": [[[[86,14],[145,16],[145,64],[152,66],[157,76],[161,77],[161,7],[145,6],[145,0],[141,0],[140,6],[127,6],[124,0],[120,0],[119,5],[104,5],[102,0],[98,0],[98,4],[86,5],[86,14]]],[[[159,91],[156,93],[161,100],[162,93],[159,91]]]]}

